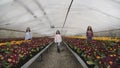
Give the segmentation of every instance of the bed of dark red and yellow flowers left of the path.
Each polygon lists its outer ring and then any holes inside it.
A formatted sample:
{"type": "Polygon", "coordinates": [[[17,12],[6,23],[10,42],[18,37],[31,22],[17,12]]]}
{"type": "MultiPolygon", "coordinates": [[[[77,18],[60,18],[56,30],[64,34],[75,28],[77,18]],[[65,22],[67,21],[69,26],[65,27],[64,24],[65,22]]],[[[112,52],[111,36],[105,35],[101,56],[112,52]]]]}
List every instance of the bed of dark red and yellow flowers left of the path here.
{"type": "Polygon", "coordinates": [[[0,46],[0,68],[20,68],[50,42],[50,38],[34,38],[4,43],[0,46]]]}

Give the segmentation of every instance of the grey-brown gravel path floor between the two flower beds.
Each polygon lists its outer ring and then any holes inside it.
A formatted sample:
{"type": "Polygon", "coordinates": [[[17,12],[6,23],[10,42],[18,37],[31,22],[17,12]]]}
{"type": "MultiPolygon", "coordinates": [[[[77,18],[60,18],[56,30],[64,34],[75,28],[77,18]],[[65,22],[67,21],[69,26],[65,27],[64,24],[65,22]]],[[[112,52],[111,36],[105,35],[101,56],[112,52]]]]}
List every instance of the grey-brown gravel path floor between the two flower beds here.
{"type": "Polygon", "coordinates": [[[65,45],[62,45],[61,52],[58,53],[55,44],[33,62],[29,68],[83,68],[76,58],[69,52],[65,45]]]}

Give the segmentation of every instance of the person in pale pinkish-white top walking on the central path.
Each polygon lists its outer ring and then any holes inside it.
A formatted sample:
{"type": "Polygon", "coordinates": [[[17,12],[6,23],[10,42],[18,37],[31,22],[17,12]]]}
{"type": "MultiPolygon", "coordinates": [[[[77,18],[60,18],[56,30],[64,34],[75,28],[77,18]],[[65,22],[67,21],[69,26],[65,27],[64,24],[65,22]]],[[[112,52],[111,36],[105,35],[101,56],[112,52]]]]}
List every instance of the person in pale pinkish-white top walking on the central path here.
{"type": "Polygon", "coordinates": [[[58,53],[60,53],[60,46],[61,46],[61,42],[62,42],[62,37],[60,35],[60,31],[59,30],[56,31],[54,42],[57,44],[57,51],[58,51],[58,53]]]}

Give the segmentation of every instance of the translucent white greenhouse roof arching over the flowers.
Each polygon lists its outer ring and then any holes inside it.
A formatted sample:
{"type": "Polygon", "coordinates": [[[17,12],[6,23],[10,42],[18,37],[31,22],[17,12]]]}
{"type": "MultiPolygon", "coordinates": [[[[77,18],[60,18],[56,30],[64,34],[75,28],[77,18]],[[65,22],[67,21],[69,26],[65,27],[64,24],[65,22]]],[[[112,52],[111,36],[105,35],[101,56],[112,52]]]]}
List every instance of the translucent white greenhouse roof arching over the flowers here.
{"type": "Polygon", "coordinates": [[[120,29],[120,0],[0,0],[0,28],[52,36],[120,29]],[[64,26],[63,26],[64,25],[64,26]]]}

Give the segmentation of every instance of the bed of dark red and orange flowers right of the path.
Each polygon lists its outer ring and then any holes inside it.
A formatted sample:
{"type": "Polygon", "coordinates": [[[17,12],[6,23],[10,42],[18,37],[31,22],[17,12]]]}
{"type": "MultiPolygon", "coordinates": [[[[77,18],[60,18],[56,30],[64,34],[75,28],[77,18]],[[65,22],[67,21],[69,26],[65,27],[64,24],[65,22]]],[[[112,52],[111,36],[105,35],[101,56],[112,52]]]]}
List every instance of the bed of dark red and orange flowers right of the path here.
{"type": "Polygon", "coordinates": [[[65,39],[69,47],[75,51],[89,68],[119,68],[120,42],[96,41],[85,39],[65,39]]]}

